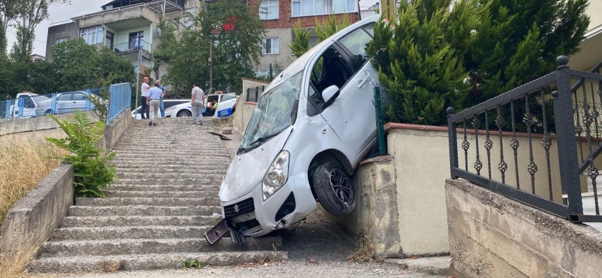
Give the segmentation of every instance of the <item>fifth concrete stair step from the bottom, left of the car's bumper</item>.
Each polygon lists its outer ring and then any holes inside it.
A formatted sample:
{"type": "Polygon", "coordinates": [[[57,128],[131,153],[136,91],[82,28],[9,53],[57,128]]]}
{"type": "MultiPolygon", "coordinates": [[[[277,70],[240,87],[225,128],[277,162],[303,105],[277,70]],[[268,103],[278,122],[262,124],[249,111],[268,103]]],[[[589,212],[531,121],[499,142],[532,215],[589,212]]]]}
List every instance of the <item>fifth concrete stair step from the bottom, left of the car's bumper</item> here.
{"type": "Polygon", "coordinates": [[[71,216],[180,216],[222,215],[220,206],[71,206],[71,216]]]}

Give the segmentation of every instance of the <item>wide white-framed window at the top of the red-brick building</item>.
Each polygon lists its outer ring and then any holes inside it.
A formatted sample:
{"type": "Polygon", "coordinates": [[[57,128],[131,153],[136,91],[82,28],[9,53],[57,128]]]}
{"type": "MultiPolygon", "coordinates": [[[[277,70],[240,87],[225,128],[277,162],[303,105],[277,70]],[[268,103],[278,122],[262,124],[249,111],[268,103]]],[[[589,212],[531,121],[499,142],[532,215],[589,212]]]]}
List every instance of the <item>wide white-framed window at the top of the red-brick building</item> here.
{"type": "Polygon", "coordinates": [[[355,0],[291,0],[293,17],[332,15],[332,13],[354,13],[355,0]]]}

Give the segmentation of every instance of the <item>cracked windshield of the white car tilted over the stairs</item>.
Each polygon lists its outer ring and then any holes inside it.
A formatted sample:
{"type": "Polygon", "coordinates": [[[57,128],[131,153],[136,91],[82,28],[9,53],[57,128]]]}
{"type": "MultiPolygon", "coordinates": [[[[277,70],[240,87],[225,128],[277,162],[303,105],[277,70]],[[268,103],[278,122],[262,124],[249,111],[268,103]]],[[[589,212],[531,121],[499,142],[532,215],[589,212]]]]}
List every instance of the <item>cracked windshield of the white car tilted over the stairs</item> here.
{"type": "Polygon", "coordinates": [[[303,72],[298,72],[259,97],[242,137],[239,154],[261,146],[295,122],[302,75],[303,72]]]}

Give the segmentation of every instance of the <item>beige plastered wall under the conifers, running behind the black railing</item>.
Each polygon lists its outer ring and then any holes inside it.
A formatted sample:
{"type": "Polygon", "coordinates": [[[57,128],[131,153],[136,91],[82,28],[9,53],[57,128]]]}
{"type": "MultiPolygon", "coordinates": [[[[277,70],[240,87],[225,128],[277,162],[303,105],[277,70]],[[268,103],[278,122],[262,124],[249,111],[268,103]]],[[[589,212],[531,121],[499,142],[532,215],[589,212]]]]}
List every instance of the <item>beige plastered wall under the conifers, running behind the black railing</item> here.
{"type": "MultiPolygon", "coordinates": [[[[445,188],[441,181],[450,177],[449,139],[446,127],[420,126],[412,124],[388,124],[386,128],[389,156],[385,161],[364,161],[354,174],[357,206],[348,217],[338,218],[354,236],[364,234],[374,243],[375,256],[430,256],[449,253],[447,208],[445,188]],[[386,209],[383,209],[386,208],[386,209]],[[394,226],[394,227],[392,227],[394,226]]],[[[474,132],[468,131],[470,142],[468,167],[474,170],[476,144],[474,132]]],[[[500,163],[499,134],[491,132],[495,146],[491,149],[492,177],[501,180],[497,164],[500,163]]],[[[511,134],[503,133],[504,157],[508,163],[506,182],[516,187],[514,154],[507,146],[511,134]]],[[[541,136],[539,136],[541,137],[541,136]]],[[[482,175],[488,175],[489,163],[479,135],[481,146],[482,175]]],[[[530,177],[526,172],[529,164],[528,138],[517,133],[521,149],[518,152],[518,167],[521,188],[530,188],[530,177]],[[525,151],[527,150],[527,151],[525,151]]],[[[557,154],[553,138],[551,154],[557,154]]],[[[465,165],[463,133],[458,133],[459,163],[465,165]]],[[[547,184],[546,156],[541,147],[541,138],[534,136],[534,162],[539,165],[536,174],[536,193],[549,197],[547,184]],[[537,150],[540,148],[541,150],[537,150]]],[[[555,202],[562,203],[562,188],[559,186],[558,156],[550,156],[555,202]]],[[[587,181],[583,180],[587,191],[587,181]]]]}

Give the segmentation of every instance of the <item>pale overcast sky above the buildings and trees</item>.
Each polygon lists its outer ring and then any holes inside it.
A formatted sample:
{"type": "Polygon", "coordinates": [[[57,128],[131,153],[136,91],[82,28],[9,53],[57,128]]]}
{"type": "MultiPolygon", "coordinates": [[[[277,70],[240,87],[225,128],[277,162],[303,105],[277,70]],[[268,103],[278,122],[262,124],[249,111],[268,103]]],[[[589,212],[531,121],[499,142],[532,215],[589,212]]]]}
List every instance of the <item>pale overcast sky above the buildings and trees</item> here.
{"type": "MultiPolygon", "coordinates": [[[[94,13],[100,10],[100,6],[109,3],[111,0],[71,0],[71,5],[53,5],[49,8],[50,18],[38,25],[36,28],[36,41],[33,42],[33,54],[46,56],[46,39],[48,36],[48,27],[53,23],[60,23],[70,20],[71,17],[94,13]]],[[[290,0],[280,0],[290,1],[290,0]]],[[[378,0],[360,0],[360,10],[368,8],[378,0]]],[[[15,28],[8,28],[8,51],[13,48],[15,43],[15,28]]]]}

